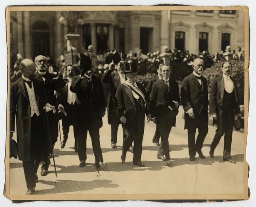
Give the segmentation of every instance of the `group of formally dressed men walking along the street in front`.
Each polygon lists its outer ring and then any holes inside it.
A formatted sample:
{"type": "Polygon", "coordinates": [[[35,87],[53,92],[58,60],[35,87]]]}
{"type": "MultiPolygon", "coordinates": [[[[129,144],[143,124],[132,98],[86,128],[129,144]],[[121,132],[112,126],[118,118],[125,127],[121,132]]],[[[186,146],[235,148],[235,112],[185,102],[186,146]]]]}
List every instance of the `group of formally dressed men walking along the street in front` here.
{"type": "Polygon", "coordinates": [[[102,78],[93,71],[89,52],[77,55],[78,68],[67,66],[66,79],[58,73],[50,73],[47,58],[42,55],[35,57],[34,62],[29,59],[20,62],[21,77],[12,82],[10,88],[10,140],[15,131],[16,117],[18,156],[23,162],[27,194],[35,191],[40,162],[41,176],[47,176],[49,158],[54,158],[53,149],[60,133],[59,119],[62,119],[64,134],[61,147],[65,147],[70,125],[73,125],[74,149],[78,153],[79,166],[86,166],[88,131],[96,169],[106,166],[99,136],[106,106],[112,148],[116,148],[118,126],[121,124],[123,128],[121,162],[125,162],[126,153],[130,150],[133,152],[133,164],[145,166],[141,156],[146,116],[148,122],[156,124],[153,142],[159,146],[157,159],[172,166],[169,135],[172,127],[175,127],[181,102],[188,132],[189,160],[195,161],[196,153],[205,158],[201,148],[208,132],[209,108],[209,113],[217,122],[209,154],[214,157],[215,147],[225,134],[223,160],[236,163],[230,154],[231,141],[234,119],[241,117],[241,113],[236,81],[230,76],[230,62],[222,64],[220,69],[223,74],[213,81],[208,101],[207,80],[201,76],[204,70],[204,60],[201,58],[192,61],[193,72],[183,79],[181,94],[177,82],[170,78],[172,68],[169,65],[160,64],[157,78],[144,87],[137,82],[139,70],[135,61],[125,62],[117,51],[111,53],[110,58],[111,63],[102,78]],[[107,103],[104,85],[110,89],[107,103]],[[195,139],[197,128],[198,136],[195,139]]]}

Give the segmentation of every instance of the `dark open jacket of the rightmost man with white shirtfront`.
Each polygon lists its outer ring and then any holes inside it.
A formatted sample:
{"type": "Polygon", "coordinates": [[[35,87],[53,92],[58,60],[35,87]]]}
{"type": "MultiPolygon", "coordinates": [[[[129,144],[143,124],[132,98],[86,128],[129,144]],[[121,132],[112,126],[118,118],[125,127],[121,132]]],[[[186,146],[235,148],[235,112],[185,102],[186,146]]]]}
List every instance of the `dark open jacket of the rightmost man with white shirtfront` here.
{"type": "MultiPolygon", "coordinates": [[[[237,85],[235,79],[230,77],[230,79],[234,83],[234,92],[235,92],[235,102],[234,109],[236,113],[240,113],[239,107],[239,96],[237,91],[237,85]]],[[[223,96],[224,96],[224,78],[223,76],[219,76],[212,81],[212,87],[210,91],[210,99],[209,99],[209,111],[210,114],[217,113],[220,117],[219,113],[222,113],[223,110],[223,96]]]]}

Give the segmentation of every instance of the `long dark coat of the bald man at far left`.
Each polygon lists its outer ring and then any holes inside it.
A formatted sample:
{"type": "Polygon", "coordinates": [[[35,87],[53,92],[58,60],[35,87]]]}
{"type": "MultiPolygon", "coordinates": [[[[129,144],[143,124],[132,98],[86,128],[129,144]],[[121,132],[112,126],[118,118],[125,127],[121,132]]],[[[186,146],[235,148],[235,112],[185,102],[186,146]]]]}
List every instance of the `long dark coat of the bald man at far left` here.
{"type": "MultiPolygon", "coordinates": [[[[43,109],[47,103],[44,82],[35,79],[33,85],[40,117],[43,123],[42,128],[44,128],[46,135],[44,138],[49,144],[48,120],[46,112],[43,109]]],[[[31,153],[31,109],[29,95],[22,77],[13,82],[10,88],[10,131],[15,131],[15,116],[19,159],[29,161],[31,153]]]]}

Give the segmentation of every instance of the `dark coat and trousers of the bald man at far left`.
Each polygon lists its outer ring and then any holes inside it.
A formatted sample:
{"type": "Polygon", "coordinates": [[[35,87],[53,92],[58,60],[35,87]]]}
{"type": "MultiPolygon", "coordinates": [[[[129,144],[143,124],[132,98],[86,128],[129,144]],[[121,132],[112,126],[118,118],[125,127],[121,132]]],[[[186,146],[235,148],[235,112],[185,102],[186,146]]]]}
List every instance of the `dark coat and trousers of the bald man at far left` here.
{"type": "Polygon", "coordinates": [[[18,155],[23,161],[28,188],[35,187],[35,173],[42,155],[50,149],[47,115],[43,109],[47,103],[44,83],[35,79],[33,85],[39,116],[34,114],[31,117],[29,95],[22,77],[13,82],[10,89],[10,131],[15,130],[16,116],[18,155]]]}

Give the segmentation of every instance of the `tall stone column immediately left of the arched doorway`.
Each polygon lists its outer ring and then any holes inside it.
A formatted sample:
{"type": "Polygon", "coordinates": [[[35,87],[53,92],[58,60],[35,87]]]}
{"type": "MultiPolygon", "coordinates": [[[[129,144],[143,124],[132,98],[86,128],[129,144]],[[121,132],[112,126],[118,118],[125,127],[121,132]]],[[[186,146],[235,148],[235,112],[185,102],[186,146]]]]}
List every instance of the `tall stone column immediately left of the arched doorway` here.
{"type": "Polygon", "coordinates": [[[29,11],[24,11],[25,57],[31,58],[29,11]]]}

